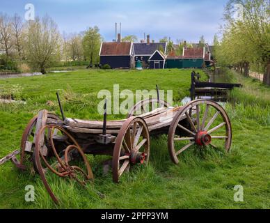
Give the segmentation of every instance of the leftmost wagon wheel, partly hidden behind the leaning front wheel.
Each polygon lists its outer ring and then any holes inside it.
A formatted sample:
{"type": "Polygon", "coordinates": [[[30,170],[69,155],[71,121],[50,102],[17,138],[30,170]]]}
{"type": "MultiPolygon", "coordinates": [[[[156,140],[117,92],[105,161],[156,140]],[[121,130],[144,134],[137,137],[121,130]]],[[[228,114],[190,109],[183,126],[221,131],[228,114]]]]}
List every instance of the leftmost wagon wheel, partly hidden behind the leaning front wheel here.
{"type": "MultiPolygon", "coordinates": [[[[48,118],[54,120],[60,120],[58,116],[55,114],[48,114],[48,118]]],[[[34,116],[31,121],[26,125],[24,133],[22,134],[21,140],[21,157],[20,157],[20,164],[25,164],[27,160],[32,158],[32,154],[35,148],[35,132],[36,132],[36,124],[37,124],[38,116],[34,116]],[[26,155],[30,155],[29,159],[26,155]]]]}

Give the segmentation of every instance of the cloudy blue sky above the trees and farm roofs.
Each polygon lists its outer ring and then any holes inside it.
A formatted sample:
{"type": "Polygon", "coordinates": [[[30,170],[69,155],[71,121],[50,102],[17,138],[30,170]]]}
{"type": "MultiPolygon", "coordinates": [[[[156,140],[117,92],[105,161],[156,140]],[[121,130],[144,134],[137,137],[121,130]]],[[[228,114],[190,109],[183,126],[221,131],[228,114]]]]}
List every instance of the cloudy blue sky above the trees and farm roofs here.
{"type": "Polygon", "coordinates": [[[212,43],[222,24],[227,0],[1,0],[0,12],[24,17],[24,6],[33,3],[35,15],[48,14],[61,31],[80,32],[99,26],[106,41],[115,37],[115,23],[122,22],[122,36],[143,33],[159,40],[168,36],[198,42],[200,36],[212,43]]]}

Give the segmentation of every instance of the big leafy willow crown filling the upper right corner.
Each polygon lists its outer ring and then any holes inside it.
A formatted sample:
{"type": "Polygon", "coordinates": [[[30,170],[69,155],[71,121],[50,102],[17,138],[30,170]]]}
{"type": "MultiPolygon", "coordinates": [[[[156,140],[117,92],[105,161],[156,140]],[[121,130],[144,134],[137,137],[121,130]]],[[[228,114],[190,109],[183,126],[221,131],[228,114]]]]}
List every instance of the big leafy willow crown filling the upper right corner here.
{"type": "Polygon", "coordinates": [[[270,85],[270,10],[269,0],[230,0],[225,21],[232,30],[241,31],[244,48],[253,49],[253,61],[264,67],[264,84],[270,85]],[[241,17],[235,17],[235,6],[241,6],[241,17]]]}

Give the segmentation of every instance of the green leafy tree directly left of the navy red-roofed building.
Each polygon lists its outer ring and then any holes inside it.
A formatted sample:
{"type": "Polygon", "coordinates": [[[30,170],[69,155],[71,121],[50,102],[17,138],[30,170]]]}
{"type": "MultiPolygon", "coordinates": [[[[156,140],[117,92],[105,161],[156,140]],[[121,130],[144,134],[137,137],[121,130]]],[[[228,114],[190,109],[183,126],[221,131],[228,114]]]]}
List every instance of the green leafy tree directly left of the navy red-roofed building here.
{"type": "Polygon", "coordinates": [[[93,65],[94,61],[96,63],[99,61],[101,41],[102,36],[100,35],[100,29],[98,29],[97,26],[85,31],[83,38],[84,55],[86,56],[86,59],[90,61],[91,65],[93,65]]]}

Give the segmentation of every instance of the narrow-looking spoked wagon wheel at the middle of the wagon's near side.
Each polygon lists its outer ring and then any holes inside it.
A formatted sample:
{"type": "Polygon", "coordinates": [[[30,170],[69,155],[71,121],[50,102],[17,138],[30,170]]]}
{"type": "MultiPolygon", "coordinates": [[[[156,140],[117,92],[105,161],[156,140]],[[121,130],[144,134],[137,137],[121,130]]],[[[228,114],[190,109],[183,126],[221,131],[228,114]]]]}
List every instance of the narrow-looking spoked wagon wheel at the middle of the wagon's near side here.
{"type": "Polygon", "coordinates": [[[131,117],[122,125],[113,149],[113,181],[135,164],[146,164],[150,155],[150,136],[143,118],[131,117]]]}

